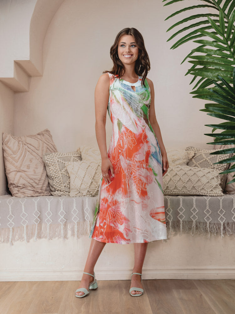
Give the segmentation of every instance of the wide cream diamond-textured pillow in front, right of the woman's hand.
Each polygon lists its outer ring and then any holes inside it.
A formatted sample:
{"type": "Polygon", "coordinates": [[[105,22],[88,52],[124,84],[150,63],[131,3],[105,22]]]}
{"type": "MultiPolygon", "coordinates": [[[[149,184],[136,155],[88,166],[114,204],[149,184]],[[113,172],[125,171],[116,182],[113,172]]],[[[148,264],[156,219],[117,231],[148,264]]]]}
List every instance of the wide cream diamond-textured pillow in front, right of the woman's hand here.
{"type": "Polygon", "coordinates": [[[215,169],[174,165],[163,176],[165,195],[222,196],[220,176],[215,169]]]}

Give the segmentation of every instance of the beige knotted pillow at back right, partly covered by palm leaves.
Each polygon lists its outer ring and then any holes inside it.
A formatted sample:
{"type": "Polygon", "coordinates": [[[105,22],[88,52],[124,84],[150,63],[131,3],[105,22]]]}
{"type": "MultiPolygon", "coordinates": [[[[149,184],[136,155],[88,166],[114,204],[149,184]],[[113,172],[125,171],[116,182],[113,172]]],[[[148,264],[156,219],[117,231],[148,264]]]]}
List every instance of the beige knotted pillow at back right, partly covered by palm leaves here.
{"type": "MultiPolygon", "coordinates": [[[[211,155],[210,153],[215,152],[219,149],[201,149],[198,147],[188,146],[185,148],[185,150],[191,150],[195,152],[195,155],[189,162],[187,163],[188,166],[191,167],[201,167],[201,168],[211,168],[217,170],[217,173],[222,172],[224,170],[227,170],[229,167],[229,164],[216,164],[213,165],[213,163],[218,162],[220,160],[229,158],[232,156],[232,154],[219,154],[219,155],[211,155]]],[[[225,189],[225,183],[226,183],[226,174],[220,174],[221,177],[221,187],[224,190],[225,189]]]]}

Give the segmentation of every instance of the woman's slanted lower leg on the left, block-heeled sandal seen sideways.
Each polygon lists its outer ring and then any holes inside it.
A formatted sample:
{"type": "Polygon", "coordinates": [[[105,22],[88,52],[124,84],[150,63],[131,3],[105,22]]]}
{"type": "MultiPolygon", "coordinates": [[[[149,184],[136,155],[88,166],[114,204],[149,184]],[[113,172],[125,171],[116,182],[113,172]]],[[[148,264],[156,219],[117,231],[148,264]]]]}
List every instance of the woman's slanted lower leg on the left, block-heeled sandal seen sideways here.
{"type": "MultiPolygon", "coordinates": [[[[91,245],[90,245],[90,249],[88,252],[87,259],[86,259],[84,272],[90,273],[90,274],[94,273],[95,264],[96,264],[96,262],[100,256],[100,253],[102,252],[105,244],[106,244],[106,242],[100,242],[100,241],[97,241],[93,238],[91,239],[91,245]]],[[[89,284],[93,280],[94,280],[94,277],[87,275],[87,274],[83,274],[80,285],[78,288],[86,288],[88,290],[89,284]]],[[[82,291],[76,292],[76,295],[83,295],[83,294],[84,294],[84,292],[82,292],[82,291]]]]}

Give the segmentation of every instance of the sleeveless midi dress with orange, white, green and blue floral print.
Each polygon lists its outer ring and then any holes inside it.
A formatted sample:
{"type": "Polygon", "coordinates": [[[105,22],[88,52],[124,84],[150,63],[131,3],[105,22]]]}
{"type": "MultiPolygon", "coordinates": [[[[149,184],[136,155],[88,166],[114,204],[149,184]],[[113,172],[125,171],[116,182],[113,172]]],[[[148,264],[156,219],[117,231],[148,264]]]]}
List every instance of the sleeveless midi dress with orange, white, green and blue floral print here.
{"type": "Polygon", "coordinates": [[[115,176],[100,180],[89,238],[129,244],[167,239],[162,155],[149,122],[150,88],[110,77],[108,114],[112,137],[107,151],[115,176]],[[135,91],[131,86],[135,86],[135,91]]]}

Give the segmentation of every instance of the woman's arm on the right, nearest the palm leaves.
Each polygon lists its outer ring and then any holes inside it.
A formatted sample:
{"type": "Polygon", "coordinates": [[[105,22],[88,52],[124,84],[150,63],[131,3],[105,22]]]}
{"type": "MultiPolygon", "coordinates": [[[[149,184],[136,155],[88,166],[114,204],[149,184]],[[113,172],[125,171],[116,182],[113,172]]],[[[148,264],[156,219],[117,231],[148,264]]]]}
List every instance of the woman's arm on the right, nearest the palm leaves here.
{"type": "Polygon", "coordinates": [[[155,106],[154,106],[154,84],[149,78],[146,78],[146,79],[149,83],[150,93],[151,93],[151,104],[150,104],[150,108],[149,108],[149,122],[150,122],[150,124],[154,130],[154,133],[156,134],[156,137],[158,139],[158,143],[160,146],[160,150],[161,150],[161,154],[162,154],[163,169],[165,170],[163,172],[163,175],[164,175],[166,173],[166,169],[168,169],[168,167],[169,167],[169,164],[168,164],[168,160],[167,160],[166,149],[165,149],[165,146],[164,146],[163,140],[162,140],[160,127],[159,127],[159,124],[158,124],[157,119],[156,119],[155,106]]]}

